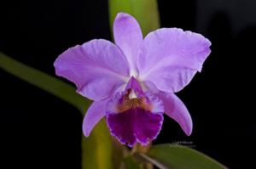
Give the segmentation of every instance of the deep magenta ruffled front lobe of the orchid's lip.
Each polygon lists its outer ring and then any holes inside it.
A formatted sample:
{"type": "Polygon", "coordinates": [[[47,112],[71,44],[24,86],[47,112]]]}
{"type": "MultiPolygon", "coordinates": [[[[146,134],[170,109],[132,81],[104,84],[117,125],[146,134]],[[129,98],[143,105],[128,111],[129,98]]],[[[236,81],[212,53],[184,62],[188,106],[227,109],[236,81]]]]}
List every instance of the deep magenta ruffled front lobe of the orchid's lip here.
{"type": "Polygon", "coordinates": [[[132,147],[137,142],[146,145],[157,137],[163,115],[134,109],[119,114],[108,113],[107,121],[111,134],[122,144],[132,147]]]}

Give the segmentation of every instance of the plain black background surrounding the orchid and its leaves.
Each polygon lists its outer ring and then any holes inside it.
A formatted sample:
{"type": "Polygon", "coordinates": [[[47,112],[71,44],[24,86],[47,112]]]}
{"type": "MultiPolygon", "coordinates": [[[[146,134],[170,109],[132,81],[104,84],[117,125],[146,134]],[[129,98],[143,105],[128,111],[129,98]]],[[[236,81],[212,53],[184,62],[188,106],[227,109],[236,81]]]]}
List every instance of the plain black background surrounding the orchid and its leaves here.
{"type": "MultiPolygon", "coordinates": [[[[155,144],[192,141],[230,168],[252,168],[256,3],[159,1],[161,27],[196,31],[212,54],[177,95],[194,121],[186,137],[167,118],[155,144]]],[[[58,54],[94,38],[110,40],[108,1],[1,1],[0,51],[54,74],[58,54]]],[[[0,70],[0,168],[80,168],[82,115],[71,105],[0,70]]]]}

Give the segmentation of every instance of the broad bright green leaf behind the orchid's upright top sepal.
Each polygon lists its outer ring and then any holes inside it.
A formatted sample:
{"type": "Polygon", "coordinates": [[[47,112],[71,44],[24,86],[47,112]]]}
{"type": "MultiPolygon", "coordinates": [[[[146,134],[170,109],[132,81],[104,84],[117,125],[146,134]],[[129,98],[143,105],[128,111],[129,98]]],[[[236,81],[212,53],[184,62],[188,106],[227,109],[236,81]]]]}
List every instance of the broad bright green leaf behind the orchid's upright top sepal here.
{"type": "MultiPolygon", "coordinates": [[[[156,0],[109,0],[109,24],[119,12],[134,16],[141,25],[143,35],[160,27],[159,12],[156,0]]],[[[111,30],[113,27],[111,26],[111,30]]]]}

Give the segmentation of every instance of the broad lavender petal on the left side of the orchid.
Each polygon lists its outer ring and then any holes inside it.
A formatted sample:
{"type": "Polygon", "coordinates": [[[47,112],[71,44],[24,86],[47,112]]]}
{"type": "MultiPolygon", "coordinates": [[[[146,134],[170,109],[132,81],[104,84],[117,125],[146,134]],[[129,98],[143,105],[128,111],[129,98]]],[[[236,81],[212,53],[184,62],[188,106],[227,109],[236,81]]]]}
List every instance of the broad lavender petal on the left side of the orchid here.
{"type": "Polygon", "coordinates": [[[118,47],[100,39],[67,49],[55,60],[55,73],[74,82],[84,97],[101,100],[128,80],[129,64],[118,47]]]}

